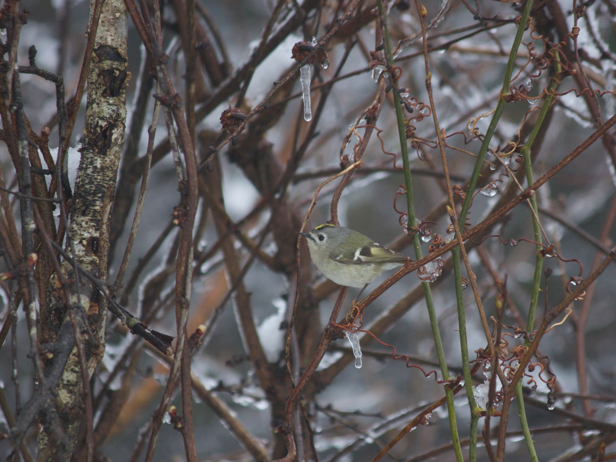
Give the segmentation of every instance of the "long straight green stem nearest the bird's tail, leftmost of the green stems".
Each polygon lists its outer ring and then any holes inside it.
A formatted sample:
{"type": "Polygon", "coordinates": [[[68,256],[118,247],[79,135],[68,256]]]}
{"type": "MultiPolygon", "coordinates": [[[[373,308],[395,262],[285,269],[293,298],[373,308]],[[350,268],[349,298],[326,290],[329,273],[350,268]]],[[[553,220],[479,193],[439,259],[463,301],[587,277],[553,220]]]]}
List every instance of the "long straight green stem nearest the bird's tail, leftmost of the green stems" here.
{"type": "MultiPolygon", "coordinates": [[[[383,1],[378,0],[379,18],[381,25],[383,26],[383,37],[385,42],[385,49],[387,55],[387,67],[391,68],[393,65],[391,43],[389,41],[389,30],[387,29],[387,22],[383,12],[383,1]]],[[[407,188],[407,211],[408,222],[407,226],[417,227],[417,219],[415,217],[415,206],[413,202],[413,182],[411,180],[411,170],[408,161],[408,147],[407,136],[404,127],[404,116],[402,113],[402,104],[400,102],[400,95],[394,89],[394,106],[395,116],[398,122],[398,134],[400,137],[400,149],[402,150],[402,163],[404,168],[404,180],[407,188]]],[[[421,241],[419,240],[418,233],[413,234],[413,248],[415,249],[415,258],[421,259],[423,253],[421,252],[421,241]]],[[[434,299],[432,299],[432,291],[428,282],[421,282],[421,286],[426,298],[426,306],[428,307],[428,316],[430,318],[430,326],[432,328],[432,336],[434,336],[434,345],[436,346],[436,354],[439,358],[440,373],[444,380],[450,378],[449,371],[447,369],[447,362],[445,361],[445,352],[443,344],[440,339],[439,323],[436,316],[436,309],[434,309],[434,299]]],[[[447,411],[449,415],[449,426],[452,432],[453,450],[456,455],[456,462],[463,462],[462,448],[460,446],[460,436],[458,436],[458,425],[456,423],[455,408],[453,407],[453,391],[445,386],[445,397],[447,399],[447,411]]]]}

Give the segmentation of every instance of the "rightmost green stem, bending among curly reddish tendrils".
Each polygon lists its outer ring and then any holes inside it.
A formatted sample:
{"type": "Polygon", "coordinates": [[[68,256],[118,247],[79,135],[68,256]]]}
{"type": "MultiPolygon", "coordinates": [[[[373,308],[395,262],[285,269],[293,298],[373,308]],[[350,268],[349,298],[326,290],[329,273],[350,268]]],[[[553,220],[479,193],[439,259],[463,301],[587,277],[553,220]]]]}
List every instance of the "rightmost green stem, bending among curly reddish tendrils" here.
{"type": "MultiPolygon", "coordinates": [[[[524,157],[524,168],[526,171],[526,181],[529,185],[533,184],[533,172],[532,172],[532,163],[530,160],[530,149],[532,148],[533,142],[535,142],[535,137],[541,128],[541,124],[543,124],[543,120],[545,120],[546,115],[548,114],[549,107],[554,98],[552,91],[556,89],[558,86],[557,76],[561,72],[561,63],[559,61],[559,55],[554,54],[556,58],[556,78],[552,79],[549,84],[549,94],[546,97],[545,102],[543,103],[543,107],[541,107],[541,112],[539,113],[539,117],[537,118],[537,123],[533,127],[530,132],[529,139],[522,147],[522,156],[524,157]]],[[[533,195],[530,197],[530,206],[532,207],[533,213],[533,230],[535,232],[535,241],[541,242],[541,227],[539,225],[539,221],[537,220],[538,211],[537,211],[537,197],[533,195]]],[[[535,312],[537,310],[537,302],[539,301],[539,290],[541,283],[541,270],[543,269],[543,257],[538,253],[543,247],[540,245],[537,246],[537,256],[535,257],[535,274],[533,275],[533,286],[530,294],[530,306],[529,306],[529,315],[526,320],[526,330],[532,331],[535,326],[535,312]]],[[[528,339],[524,340],[525,346],[530,346],[530,342],[528,339]]],[[[516,384],[516,402],[517,402],[517,414],[520,418],[520,425],[522,427],[522,432],[524,433],[524,440],[526,442],[526,447],[529,450],[530,460],[532,462],[538,462],[539,458],[537,457],[537,452],[535,451],[535,445],[533,445],[532,436],[530,435],[529,424],[526,420],[526,412],[524,410],[524,397],[522,395],[522,381],[518,381],[516,384]]]]}

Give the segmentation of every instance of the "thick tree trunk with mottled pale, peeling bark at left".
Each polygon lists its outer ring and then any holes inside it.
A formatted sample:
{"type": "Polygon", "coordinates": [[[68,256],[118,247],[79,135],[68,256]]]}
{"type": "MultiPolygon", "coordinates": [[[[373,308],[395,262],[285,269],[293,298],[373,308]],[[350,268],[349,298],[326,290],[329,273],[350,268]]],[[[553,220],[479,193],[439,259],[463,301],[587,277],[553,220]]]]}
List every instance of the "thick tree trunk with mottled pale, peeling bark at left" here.
{"type": "MultiPolygon", "coordinates": [[[[91,10],[93,8],[94,0],[91,1],[91,10]]],[[[76,263],[103,280],[107,278],[109,217],[124,142],[126,87],[130,77],[126,71],[126,19],[123,1],[105,1],[87,78],[86,125],[71,211],[70,233],[76,263]]],[[[70,245],[67,245],[67,253],[71,254],[70,245]]],[[[92,283],[83,276],[79,280],[81,287],[78,290],[75,270],[69,262],[63,262],[62,270],[71,282],[71,303],[86,314],[89,329],[95,337],[95,342],[92,342],[87,331],[82,330],[87,373],[91,376],[104,352],[107,309],[103,299],[99,300],[92,283]],[[95,346],[96,342],[99,346],[95,346]]],[[[67,312],[59,296],[54,293],[51,294],[51,307],[55,323],[59,326],[67,317],[67,312]]],[[[55,399],[71,453],[84,417],[82,391],[78,354],[73,349],[57,386],[55,399]]],[[[41,432],[38,460],[53,460],[54,454],[54,440],[47,432],[41,432]]]]}

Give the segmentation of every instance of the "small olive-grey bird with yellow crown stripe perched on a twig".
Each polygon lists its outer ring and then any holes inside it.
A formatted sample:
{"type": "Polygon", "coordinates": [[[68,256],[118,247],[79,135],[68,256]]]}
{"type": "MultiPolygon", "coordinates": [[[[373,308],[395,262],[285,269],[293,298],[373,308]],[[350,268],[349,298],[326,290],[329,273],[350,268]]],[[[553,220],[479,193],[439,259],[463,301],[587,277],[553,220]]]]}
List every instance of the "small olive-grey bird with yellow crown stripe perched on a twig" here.
{"type": "Polygon", "coordinates": [[[384,271],[410,262],[403,254],[342,226],[323,224],[299,234],[306,237],[310,258],[323,275],[341,286],[361,287],[357,297],[384,271]]]}

